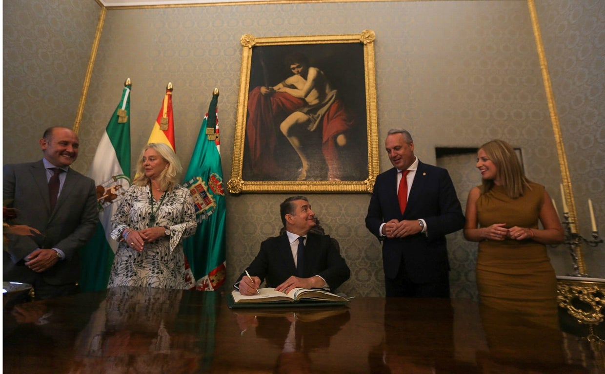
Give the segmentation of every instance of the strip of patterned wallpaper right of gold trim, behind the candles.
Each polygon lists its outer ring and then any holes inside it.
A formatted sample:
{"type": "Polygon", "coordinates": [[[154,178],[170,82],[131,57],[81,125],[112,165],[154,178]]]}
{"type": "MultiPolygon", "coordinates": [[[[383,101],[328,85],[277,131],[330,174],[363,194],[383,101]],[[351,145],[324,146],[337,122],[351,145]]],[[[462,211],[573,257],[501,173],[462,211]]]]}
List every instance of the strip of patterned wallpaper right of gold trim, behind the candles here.
{"type": "MultiPolygon", "coordinates": [[[[537,1],[580,233],[590,238],[588,199],[605,233],[605,4],[537,1]]],[[[584,245],[590,276],[605,277],[605,246],[584,245]]]]}

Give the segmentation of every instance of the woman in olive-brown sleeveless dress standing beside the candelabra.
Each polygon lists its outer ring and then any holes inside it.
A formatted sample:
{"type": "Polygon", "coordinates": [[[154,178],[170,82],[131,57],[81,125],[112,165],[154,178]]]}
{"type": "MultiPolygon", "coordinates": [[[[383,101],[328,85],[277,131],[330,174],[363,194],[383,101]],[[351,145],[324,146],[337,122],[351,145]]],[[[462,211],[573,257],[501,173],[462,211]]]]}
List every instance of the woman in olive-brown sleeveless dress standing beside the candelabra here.
{"type": "Polygon", "coordinates": [[[526,178],[514,149],[502,140],[480,147],[477,169],[482,184],[468,195],[464,236],[479,242],[482,303],[556,309],[557,279],[546,244],[561,243],[563,227],[545,187],[526,178]]]}

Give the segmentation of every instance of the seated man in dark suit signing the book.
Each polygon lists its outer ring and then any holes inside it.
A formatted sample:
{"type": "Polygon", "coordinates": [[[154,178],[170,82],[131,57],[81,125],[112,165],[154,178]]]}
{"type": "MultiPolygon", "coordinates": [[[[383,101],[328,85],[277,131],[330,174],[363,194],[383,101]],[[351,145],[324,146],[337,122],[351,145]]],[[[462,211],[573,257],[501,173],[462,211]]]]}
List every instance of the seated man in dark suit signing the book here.
{"type": "Polygon", "coordinates": [[[292,196],[280,205],[286,232],[261,243],[261,250],[241,274],[235,288],[256,295],[263,280],[267,287],[289,292],[293,288],[329,288],[334,291],[350,276],[338,245],[329,235],[314,233],[315,213],[304,196],[292,196]]]}

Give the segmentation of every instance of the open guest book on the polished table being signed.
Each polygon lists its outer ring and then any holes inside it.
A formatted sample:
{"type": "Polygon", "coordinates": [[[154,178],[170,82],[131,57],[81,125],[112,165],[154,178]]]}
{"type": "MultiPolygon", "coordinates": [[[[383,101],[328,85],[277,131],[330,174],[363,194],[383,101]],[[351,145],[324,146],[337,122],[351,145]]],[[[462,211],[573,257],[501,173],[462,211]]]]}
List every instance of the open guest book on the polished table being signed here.
{"type": "Polygon", "coordinates": [[[275,308],[283,306],[328,306],[344,305],[348,298],[318,288],[295,288],[284,294],[275,288],[259,288],[257,295],[242,295],[234,289],[227,294],[229,308],[275,308]]]}

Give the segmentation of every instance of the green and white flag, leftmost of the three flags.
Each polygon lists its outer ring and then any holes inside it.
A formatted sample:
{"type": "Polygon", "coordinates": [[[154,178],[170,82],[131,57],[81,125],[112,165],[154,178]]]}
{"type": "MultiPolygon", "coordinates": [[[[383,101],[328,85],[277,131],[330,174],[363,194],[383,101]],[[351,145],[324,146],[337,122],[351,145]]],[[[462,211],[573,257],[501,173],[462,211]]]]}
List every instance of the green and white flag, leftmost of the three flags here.
{"type": "Polygon", "coordinates": [[[107,287],[117,250],[116,240],[110,237],[111,217],[130,187],[130,89],[130,79],[126,79],[122,100],[111,115],[88,169],[88,176],[97,185],[99,225],[80,253],[83,292],[107,287]]]}

